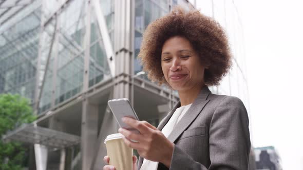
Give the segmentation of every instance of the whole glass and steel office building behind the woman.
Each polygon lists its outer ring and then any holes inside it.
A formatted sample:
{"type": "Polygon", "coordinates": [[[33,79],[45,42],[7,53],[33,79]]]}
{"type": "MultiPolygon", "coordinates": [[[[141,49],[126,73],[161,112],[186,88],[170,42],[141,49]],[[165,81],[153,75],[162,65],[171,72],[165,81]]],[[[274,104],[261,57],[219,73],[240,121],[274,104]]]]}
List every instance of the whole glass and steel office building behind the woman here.
{"type": "Polygon", "coordinates": [[[38,116],[4,139],[29,144],[29,169],[102,169],[103,140],[118,129],[108,99],[129,98],[140,119],[157,125],[178,94],[141,72],[142,33],[174,5],[196,3],[227,30],[234,54],[231,73],[211,90],[249,108],[233,1],[0,1],[0,93],[29,98],[38,116]]]}

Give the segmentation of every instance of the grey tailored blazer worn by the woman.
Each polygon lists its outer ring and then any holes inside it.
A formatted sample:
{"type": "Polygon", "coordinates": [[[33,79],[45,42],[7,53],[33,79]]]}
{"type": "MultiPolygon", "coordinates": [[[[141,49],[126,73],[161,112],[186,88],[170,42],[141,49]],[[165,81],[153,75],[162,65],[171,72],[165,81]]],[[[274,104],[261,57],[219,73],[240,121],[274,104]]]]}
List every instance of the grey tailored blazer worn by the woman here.
{"type": "MultiPolygon", "coordinates": [[[[160,122],[162,130],[180,101],[160,122]]],[[[250,132],[247,110],[237,97],[215,95],[204,86],[168,136],[175,143],[169,169],[248,169],[250,132]]],[[[138,161],[141,168],[143,158],[138,161]]],[[[158,164],[158,170],[168,169],[158,164]]]]}

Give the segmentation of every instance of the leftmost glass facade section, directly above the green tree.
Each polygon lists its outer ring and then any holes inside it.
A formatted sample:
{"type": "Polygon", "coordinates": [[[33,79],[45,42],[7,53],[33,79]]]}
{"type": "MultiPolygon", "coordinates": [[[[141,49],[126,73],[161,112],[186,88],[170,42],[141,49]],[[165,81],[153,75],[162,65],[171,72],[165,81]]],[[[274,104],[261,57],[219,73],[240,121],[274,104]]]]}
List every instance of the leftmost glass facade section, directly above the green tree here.
{"type": "MultiPolygon", "coordinates": [[[[14,8],[12,10],[15,11],[14,8]]],[[[26,11],[22,19],[16,16],[15,20],[6,20],[9,25],[6,30],[4,25],[1,26],[0,93],[18,93],[33,101],[39,53],[41,5],[34,3],[30,10],[31,12],[26,11]]]]}

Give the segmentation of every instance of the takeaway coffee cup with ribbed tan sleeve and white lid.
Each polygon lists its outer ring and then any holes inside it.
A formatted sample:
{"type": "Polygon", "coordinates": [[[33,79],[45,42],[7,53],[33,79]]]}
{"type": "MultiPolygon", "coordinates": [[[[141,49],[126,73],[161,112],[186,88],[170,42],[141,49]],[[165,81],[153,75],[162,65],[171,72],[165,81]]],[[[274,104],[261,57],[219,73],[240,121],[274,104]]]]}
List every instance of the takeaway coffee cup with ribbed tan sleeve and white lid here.
{"type": "Polygon", "coordinates": [[[123,135],[111,134],[106,137],[107,155],[109,164],[116,167],[116,170],[132,170],[132,148],[123,141],[123,135]]]}

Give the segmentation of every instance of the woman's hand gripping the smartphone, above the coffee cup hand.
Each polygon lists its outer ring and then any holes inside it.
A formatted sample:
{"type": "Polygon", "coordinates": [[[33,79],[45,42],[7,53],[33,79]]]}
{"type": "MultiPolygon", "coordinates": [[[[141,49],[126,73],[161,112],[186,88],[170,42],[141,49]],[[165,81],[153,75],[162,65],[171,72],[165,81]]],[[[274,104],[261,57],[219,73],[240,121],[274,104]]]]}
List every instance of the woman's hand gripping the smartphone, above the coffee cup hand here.
{"type": "Polygon", "coordinates": [[[119,129],[119,133],[125,136],[123,140],[127,146],[137,150],[145,159],[161,162],[167,167],[171,165],[174,143],[169,141],[161,131],[147,121],[138,121],[128,117],[122,120],[140,132],[136,134],[123,128],[119,129]]]}

